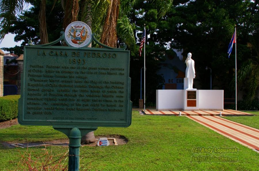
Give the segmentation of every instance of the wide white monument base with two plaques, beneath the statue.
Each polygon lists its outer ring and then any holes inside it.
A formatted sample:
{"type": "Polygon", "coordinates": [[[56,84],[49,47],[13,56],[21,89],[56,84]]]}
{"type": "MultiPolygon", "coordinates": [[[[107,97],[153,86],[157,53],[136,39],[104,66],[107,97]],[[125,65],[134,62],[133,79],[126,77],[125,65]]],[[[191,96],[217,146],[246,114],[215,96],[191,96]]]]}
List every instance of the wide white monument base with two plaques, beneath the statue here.
{"type": "Polygon", "coordinates": [[[223,110],[224,90],[156,90],[157,110],[223,110]]]}

